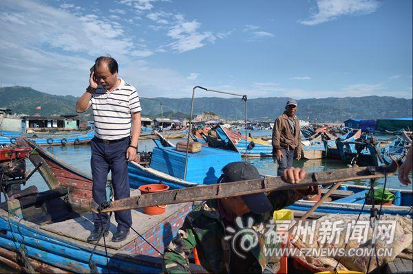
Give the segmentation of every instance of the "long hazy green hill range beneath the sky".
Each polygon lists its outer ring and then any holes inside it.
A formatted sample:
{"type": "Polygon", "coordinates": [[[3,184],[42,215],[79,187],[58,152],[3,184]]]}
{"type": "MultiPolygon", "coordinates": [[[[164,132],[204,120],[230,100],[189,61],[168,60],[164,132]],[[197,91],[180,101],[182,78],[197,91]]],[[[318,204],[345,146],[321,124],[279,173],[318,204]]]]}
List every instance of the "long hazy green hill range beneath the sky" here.
{"type": "MultiPolygon", "coordinates": [[[[74,114],[76,100],[72,95],[50,95],[29,87],[3,87],[0,89],[0,107],[12,109],[13,113],[41,115],[74,114]]],[[[191,98],[156,98],[162,102],[165,118],[184,119],[189,116],[191,98]]],[[[270,121],[284,111],[288,98],[248,99],[248,119],[270,121]]],[[[381,119],[412,117],[412,99],[394,97],[348,97],[297,100],[297,115],[311,122],[342,122],[350,118],[381,119]]],[[[160,104],[141,99],[142,115],[160,117],[160,104]]],[[[228,119],[244,119],[244,102],[239,98],[195,98],[194,114],[212,111],[228,119]]],[[[90,111],[87,111],[90,113],[90,111]]]]}

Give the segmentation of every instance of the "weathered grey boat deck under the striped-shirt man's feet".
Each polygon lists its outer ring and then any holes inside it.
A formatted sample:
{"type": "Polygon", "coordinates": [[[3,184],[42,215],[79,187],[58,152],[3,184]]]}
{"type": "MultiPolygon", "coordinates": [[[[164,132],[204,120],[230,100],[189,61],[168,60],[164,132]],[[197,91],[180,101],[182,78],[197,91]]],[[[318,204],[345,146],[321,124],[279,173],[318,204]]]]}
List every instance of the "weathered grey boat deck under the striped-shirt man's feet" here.
{"type": "MultiPolygon", "coordinates": [[[[191,207],[191,203],[180,203],[176,205],[168,205],[166,212],[160,215],[147,215],[143,213],[142,209],[131,210],[132,215],[132,227],[140,233],[142,236],[146,236],[147,233],[156,235],[161,230],[163,239],[159,239],[163,242],[163,245],[169,244],[172,238],[172,231],[176,231],[179,227],[177,223],[170,223],[169,219],[176,214],[185,214],[191,207]],[[160,227],[161,224],[161,227],[160,227]]],[[[182,225],[182,224],[180,224],[182,225]]],[[[87,213],[84,216],[65,220],[64,222],[56,222],[50,225],[43,225],[41,229],[46,231],[56,233],[59,236],[65,236],[70,239],[78,240],[81,242],[87,242],[87,237],[90,232],[94,229],[94,222],[92,213],[87,213]]],[[[112,242],[112,236],[116,233],[116,221],[115,216],[112,214],[111,223],[109,227],[109,236],[105,237],[106,246],[109,249],[125,249],[128,244],[133,244],[135,240],[142,240],[134,231],[130,230],[129,235],[126,240],[122,242],[112,242]]],[[[146,238],[146,237],[145,237],[146,238]]],[[[68,239],[68,240],[70,240],[68,239]]],[[[149,239],[147,239],[149,240],[149,239]]],[[[147,243],[142,243],[148,245],[147,243]]],[[[100,239],[98,243],[101,247],[104,246],[103,238],[100,239]]],[[[147,247],[145,247],[146,249],[147,247]]],[[[134,244],[134,253],[140,253],[141,249],[137,243],[134,244]]],[[[163,251],[163,250],[162,250],[163,251]]],[[[161,252],[162,252],[161,251],[161,252]]]]}

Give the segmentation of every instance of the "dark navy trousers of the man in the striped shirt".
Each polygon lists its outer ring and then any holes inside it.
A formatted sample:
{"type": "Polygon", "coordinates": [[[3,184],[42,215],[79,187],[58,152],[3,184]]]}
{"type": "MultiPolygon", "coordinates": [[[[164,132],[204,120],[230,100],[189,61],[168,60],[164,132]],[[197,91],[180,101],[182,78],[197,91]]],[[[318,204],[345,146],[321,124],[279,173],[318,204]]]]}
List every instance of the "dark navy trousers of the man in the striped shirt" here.
{"type": "MultiPolygon", "coordinates": [[[[111,144],[105,144],[101,139],[94,137],[90,143],[92,147],[93,176],[93,198],[96,203],[101,204],[106,201],[106,181],[107,174],[112,172],[112,185],[114,188],[115,200],[129,198],[129,176],[127,174],[126,150],[130,144],[129,138],[111,144]]],[[[109,225],[109,215],[107,213],[94,214],[94,224],[96,226],[109,225]],[[100,218],[102,222],[100,222],[100,218]]],[[[118,229],[129,229],[132,225],[130,210],[115,212],[115,220],[118,222],[118,229]]]]}

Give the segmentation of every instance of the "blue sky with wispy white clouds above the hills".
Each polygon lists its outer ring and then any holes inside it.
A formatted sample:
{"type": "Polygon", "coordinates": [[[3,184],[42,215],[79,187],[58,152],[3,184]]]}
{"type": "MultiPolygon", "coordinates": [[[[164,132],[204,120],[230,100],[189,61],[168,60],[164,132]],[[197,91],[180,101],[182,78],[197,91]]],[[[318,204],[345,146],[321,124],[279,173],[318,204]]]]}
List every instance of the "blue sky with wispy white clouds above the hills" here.
{"type": "Polygon", "coordinates": [[[145,97],[412,98],[411,0],[2,0],[0,49],[2,87],[59,95],[110,54],[145,97]]]}

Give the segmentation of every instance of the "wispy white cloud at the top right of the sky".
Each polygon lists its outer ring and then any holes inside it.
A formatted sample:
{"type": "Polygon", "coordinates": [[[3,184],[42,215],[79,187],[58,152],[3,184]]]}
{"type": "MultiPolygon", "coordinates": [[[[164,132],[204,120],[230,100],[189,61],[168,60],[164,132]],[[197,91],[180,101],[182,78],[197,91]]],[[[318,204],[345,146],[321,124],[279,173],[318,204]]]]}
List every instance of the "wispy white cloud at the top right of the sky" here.
{"type": "Polygon", "coordinates": [[[377,0],[317,0],[317,12],[308,19],[299,21],[303,25],[317,25],[345,15],[361,15],[375,12],[380,6],[377,0]]]}

